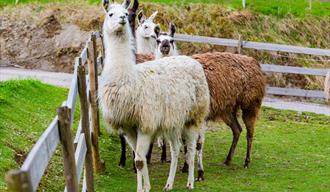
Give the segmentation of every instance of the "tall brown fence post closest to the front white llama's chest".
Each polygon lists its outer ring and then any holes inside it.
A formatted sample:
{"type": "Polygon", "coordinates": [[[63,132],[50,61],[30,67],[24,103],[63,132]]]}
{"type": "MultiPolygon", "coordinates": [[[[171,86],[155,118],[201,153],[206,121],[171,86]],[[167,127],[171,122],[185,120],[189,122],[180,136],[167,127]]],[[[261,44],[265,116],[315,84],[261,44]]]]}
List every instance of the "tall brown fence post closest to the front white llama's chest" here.
{"type": "Polygon", "coordinates": [[[91,35],[91,41],[88,42],[88,76],[89,76],[89,101],[91,114],[92,147],[94,168],[97,173],[104,170],[104,164],[101,162],[99,152],[100,121],[97,105],[97,50],[96,36],[91,35]]]}

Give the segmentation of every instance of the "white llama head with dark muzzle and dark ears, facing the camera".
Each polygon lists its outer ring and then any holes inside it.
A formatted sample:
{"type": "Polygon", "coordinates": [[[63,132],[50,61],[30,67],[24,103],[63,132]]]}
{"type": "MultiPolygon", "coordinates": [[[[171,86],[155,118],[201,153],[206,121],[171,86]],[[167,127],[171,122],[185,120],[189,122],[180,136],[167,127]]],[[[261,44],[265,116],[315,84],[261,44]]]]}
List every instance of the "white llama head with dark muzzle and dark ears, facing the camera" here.
{"type": "Polygon", "coordinates": [[[155,30],[157,35],[157,50],[156,55],[158,58],[177,55],[176,45],[174,42],[175,25],[170,23],[169,32],[160,32],[155,30]]]}

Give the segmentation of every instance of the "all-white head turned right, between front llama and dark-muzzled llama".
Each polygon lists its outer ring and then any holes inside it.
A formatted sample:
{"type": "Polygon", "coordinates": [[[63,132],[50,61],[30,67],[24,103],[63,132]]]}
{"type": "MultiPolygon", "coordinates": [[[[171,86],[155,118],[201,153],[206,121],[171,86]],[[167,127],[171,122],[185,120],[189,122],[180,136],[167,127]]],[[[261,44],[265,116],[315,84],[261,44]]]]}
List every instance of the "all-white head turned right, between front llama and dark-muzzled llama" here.
{"type": "Polygon", "coordinates": [[[157,15],[158,11],[154,12],[149,18],[147,18],[143,11],[140,11],[138,14],[138,28],[137,31],[140,36],[143,38],[149,39],[154,38],[156,39],[155,28],[160,28],[159,25],[154,23],[154,19],[157,15]]]}

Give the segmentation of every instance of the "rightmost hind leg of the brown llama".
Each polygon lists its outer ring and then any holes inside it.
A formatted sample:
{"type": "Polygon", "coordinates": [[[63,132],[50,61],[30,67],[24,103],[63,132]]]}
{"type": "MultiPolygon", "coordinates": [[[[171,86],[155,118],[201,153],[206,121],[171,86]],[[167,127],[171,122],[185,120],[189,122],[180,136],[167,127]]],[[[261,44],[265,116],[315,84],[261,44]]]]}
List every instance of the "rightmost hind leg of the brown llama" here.
{"type": "Polygon", "coordinates": [[[248,168],[250,165],[250,155],[252,149],[252,140],[254,135],[255,122],[258,116],[259,106],[253,106],[249,109],[243,110],[243,121],[246,126],[246,139],[247,139],[247,151],[245,157],[244,167],[248,168]]]}

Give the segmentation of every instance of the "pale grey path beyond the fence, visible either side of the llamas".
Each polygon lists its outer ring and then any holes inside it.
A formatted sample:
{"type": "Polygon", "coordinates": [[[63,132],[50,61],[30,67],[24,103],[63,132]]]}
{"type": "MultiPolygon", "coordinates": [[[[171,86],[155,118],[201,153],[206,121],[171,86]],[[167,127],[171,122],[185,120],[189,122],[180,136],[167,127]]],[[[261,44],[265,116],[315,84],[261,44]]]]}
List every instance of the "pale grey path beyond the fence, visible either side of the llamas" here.
{"type": "MultiPolygon", "coordinates": [[[[49,83],[61,87],[69,87],[72,74],[70,73],[57,73],[41,70],[28,70],[13,67],[0,67],[0,81],[9,79],[38,79],[45,83],[49,83]]],[[[306,102],[293,102],[286,101],[278,98],[266,97],[263,106],[293,110],[298,112],[313,112],[317,114],[324,114],[330,116],[330,106],[319,105],[306,102]]]]}

